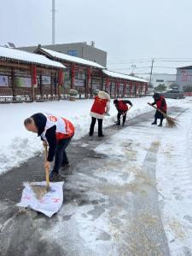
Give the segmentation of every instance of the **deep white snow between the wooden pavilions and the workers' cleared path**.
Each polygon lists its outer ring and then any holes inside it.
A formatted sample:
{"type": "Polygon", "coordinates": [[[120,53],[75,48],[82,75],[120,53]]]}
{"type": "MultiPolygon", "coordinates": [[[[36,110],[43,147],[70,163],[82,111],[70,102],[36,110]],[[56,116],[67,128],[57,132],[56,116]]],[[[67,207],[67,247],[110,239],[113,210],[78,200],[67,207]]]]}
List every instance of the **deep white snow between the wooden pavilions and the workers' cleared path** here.
{"type": "MultiPolygon", "coordinates": [[[[152,97],[133,98],[134,107],[131,108],[129,118],[152,110],[146,103],[152,102],[152,97]]],[[[168,104],[175,105],[186,100],[167,100],[168,104]]],[[[90,108],[93,100],[78,100],[76,102],[33,102],[5,104],[0,106],[2,118],[0,132],[0,173],[20,165],[42,151],[40,139],[25,130],[23,120],[33,113],[49,112],[61,115],[72,120],[76,128],[75,139],[83,137],[89,131],[90,108]]],[[[104,119],[104,127],[112,125],[116,116],[116,109],[111,102],[110,117],[104,119]]]]}

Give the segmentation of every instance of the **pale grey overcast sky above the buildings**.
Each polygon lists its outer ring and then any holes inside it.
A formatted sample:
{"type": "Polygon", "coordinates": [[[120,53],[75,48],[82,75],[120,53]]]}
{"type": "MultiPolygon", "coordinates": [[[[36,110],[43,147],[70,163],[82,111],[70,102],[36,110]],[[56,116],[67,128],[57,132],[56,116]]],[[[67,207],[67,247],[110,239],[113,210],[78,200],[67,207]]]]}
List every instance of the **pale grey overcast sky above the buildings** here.
{"type": "MultiPolygon", "coordinates": [[[[1,0],[0,45],[51,44],[51,3],[1,0]]],[[[149,73],[153,57],[156,73],[192,64],[191,0],[55,0],[55,7],[55,44],[93,40],[108,52],[111,70],[130,73],[136,65],[149,73]]]]}

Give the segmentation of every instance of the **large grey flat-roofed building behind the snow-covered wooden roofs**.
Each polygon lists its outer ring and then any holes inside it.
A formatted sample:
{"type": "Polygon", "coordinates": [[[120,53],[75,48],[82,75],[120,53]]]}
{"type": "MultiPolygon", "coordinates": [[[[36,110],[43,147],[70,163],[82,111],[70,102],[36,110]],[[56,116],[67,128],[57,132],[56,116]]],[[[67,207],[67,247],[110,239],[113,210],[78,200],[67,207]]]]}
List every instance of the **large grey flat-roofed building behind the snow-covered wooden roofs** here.
{"type": "MultiPolygon", "coordinates": [[[[84,42],[73,44],[49,44],[41,46],[46,49],[52,49],[60,53],[83,58],[87,61],[94,61],[102,65],[103,67],[107,67],[107,52],[102,49],[97,49],[95,47],[95,42],[93,41],[91,42],[91,44],[86,44],[86,42],[84,42]]],[[[27,46],[19,47],[18,49],[33,52],[37,48],[38,46],[27,46]]]]}

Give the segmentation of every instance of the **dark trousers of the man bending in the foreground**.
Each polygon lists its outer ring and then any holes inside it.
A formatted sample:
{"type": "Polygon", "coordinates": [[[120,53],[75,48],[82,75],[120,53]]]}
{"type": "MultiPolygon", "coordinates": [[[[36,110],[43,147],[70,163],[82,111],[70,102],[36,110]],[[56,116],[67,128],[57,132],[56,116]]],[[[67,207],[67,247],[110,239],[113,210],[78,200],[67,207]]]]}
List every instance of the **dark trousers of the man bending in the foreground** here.
{"type": "Polygon", "coordinates": [[[67,165],[68,164],[68,158],[66,154],[66,148],[68,144],[71,142],[72,137],[67,137],[66,139],[63,139],[59,141],[55,148],[55,163],[53,172],[59,173],[61,165],[67,165]]]}

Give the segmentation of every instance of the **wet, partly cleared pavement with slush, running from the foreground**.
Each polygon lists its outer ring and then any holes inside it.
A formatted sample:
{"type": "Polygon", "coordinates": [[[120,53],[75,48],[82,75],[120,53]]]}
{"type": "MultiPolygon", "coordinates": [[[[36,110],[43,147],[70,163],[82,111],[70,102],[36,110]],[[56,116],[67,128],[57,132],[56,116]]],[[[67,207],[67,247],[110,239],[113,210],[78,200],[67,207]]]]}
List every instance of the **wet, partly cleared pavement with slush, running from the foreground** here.
{"type": "MultiPolygon", "coordinates": [[[[184,111],[172,108],[172,113],[184,111]]],[[[155,185],[159,144],[149,139],[143,149],[134,136],[144,132],[154,112],[104,129],[104,138],[83,137],[67,148],[71,166],[62,170],[64,202],[53,218],[15,207],[22,183],[44,180],[44,157],[39,155],[0,177],[0,255],[169,255],[155,185]],[[132,132],[125,141],[125,159],[97,153],[119,131],[132,132]],[[146,153],[137,169],[139,150],[146,153]],[[130,183],[130,172],[136,178],[130,183]],[[113,178],[113,180],[111,180],[113,178]]],[[[161,128],[160,128],[161,129],[161,128]]],[[[161,131],[154,131],[159,134],[161,131]]],[[[150,137],[150,135],[149,135],[150,137]]]]}

